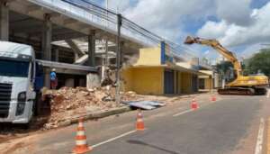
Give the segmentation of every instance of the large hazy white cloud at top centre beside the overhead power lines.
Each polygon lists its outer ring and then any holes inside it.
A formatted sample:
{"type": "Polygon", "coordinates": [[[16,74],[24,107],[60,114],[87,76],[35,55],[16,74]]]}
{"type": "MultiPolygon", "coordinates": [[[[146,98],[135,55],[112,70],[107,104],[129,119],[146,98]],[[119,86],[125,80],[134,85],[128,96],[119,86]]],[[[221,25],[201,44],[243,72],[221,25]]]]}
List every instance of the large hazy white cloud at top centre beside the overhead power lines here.
{"type": "Polygon", "coordinates": [[[201,0],[138,0],[123,14],[149,31],[176,41],[186,34],[183,31],[184,18],[196,20],[207,16],[211,9],[205,8],[210,4],[211,0],[205,0],[204,3],[201,0]]]}

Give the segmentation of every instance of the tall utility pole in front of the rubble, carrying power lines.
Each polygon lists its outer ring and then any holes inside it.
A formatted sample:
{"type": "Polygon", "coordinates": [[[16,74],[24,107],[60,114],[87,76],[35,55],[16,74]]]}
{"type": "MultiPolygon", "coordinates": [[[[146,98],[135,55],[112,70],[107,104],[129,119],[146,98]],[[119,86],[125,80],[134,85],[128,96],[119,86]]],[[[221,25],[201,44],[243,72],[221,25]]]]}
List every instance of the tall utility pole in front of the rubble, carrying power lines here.
{"type": "Polygon", "coordinates": [[[117,14],[117,39],[116,39],[116,94],[115,94],[115,101],[117,104],[121,103],[121,95],[120,95],[120,68],[121,68],[121,14],[117,14]]]}

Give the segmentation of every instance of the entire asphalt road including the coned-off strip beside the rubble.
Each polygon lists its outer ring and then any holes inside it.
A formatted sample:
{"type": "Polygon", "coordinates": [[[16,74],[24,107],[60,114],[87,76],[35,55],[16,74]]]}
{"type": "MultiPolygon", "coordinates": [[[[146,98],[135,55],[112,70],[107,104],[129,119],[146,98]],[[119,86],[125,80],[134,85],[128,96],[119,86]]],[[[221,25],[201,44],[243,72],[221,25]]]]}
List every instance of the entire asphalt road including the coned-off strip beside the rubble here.
{"type": "MultiPolygon", "coordinates": [[[[146,131],[134,131],[136,111],[85,122],[94,154],[220,154],[255,153],[261,117],[269,116],[266,96],[220,96],[212,103],[191,98],[144,111],[146,131]],[[187,112],[186,112],[187,111],[187,112]]],[[[76,125],[21,139],[9,153],[70,153],[76,125]]],[[[11,141],[11,143],[14,141],[11,141]]],[[[5,145],[3,145],[5,146],[5,145]]],[[[0,145],[1,147],[1,145],[0,145]]]]}

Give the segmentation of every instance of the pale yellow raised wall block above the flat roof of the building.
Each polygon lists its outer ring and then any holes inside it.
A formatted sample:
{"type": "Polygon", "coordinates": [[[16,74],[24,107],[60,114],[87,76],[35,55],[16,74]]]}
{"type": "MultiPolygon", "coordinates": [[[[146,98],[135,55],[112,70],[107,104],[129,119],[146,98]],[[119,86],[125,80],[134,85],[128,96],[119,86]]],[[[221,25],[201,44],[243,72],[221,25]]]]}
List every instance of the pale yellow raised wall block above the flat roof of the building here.
{"type": "Polygon", "coordinates": [[[139,59],[134,66],[157,66],[161,64],[161,50],[157,48],[146,48],[139,50],[139,59]]]}

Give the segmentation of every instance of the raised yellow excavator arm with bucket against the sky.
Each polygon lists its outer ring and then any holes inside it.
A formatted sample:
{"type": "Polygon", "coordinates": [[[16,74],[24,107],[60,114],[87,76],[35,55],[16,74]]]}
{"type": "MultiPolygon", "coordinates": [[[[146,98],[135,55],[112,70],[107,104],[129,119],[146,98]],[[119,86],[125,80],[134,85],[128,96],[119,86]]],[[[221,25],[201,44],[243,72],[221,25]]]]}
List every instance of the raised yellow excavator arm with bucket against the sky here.
{"type": "Polygon", "coordinates": [[[202,38],[193,38],[191,36],[188,36],[186,38],[186,40],[184,41],[185,44],[193,44],[193,43],[197,43],[197,44],[202,44],[202,45],[206,45],[206,46],[210,46],[211,48],[217,50],[225,59],[228,59],[232,64],[234,69],[237,72],[238,77],[242,74],[242,67],[240,65],[240,63],[238,62],[238,59],[234,56],[234,54],[229,51],[226,50],[219,41],[217,40],[206,40],[206,39],[202,39],[202,38]]]}

